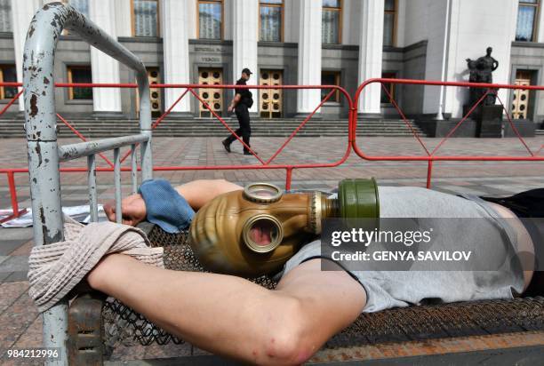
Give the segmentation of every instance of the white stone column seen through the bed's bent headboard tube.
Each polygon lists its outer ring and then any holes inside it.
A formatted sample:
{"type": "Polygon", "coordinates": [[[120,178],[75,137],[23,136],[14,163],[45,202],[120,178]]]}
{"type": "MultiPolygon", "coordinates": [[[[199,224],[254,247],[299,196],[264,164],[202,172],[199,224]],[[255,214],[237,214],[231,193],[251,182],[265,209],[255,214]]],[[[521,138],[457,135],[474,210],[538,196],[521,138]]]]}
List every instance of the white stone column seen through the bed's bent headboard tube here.
{"type": "MultiPolygon", "coordinates": [[[[109,36],[117,38],[116,34],[116,4],[114,0],[89,2],[89,16],[109,36]]],[[[92,83],[120,83],[119,62],[106,53],[91,47],[92,83]]],[[[116,88],[92,89],[92,105],[94,112],[121,112],[121,92],[116,88]]]]}

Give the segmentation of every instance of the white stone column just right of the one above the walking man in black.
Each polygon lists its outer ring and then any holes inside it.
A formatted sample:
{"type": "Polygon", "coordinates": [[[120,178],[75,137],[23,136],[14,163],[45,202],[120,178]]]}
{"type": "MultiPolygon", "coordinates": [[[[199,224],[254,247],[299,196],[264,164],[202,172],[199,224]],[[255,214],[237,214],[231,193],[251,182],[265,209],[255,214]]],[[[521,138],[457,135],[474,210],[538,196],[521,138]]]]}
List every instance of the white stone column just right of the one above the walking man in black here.
{"type": "MultiPolygon", "coordinates": [[[[322,2],[300,0],[299,85],[321,84],[321,14],[322,2]]],[[[321,100],[319,89],[299,90],[297,113],[308,115],[321,100]]]]}

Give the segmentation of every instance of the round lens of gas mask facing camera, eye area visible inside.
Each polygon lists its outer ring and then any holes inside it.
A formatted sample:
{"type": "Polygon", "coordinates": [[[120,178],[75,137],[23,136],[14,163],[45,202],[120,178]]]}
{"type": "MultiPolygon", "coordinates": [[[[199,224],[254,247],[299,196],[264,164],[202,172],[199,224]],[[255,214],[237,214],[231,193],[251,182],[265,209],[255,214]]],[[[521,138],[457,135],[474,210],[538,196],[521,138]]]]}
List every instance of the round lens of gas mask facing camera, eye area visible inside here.
{"type": "Polygon", "coordinates": [[[248,219],[243,229],[244,243],[257,253],[274,251],[282,243],[284,232],[273,216],[260,214],[248,219]]]}

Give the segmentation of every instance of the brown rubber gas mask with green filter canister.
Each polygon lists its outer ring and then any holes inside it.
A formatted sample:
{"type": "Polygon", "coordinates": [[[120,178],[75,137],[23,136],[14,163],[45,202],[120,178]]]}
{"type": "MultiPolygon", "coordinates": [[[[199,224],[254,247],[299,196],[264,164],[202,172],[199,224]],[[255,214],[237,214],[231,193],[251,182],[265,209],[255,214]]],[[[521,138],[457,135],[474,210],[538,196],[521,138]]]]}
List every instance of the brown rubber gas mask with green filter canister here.
{"type": "Polygon", "coordinates": [[[334,198],[253,183],[206,203],[189,231],[191,247],[206,269],[254,277],[281,270],[303,244],[321,234],[322,219],[379,217],[373,178],[342,180],[334,198]]]}

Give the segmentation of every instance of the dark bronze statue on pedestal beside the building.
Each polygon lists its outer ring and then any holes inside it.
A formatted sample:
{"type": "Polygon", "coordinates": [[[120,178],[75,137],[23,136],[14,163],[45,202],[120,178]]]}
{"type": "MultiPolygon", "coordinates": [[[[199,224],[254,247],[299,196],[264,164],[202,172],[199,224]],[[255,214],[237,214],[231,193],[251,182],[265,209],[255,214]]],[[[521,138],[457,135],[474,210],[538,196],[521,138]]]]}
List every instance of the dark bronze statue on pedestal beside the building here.
{"type": "MultiPolygon", "coordinates": [[[[470,70],[470,76],[468,81],[470,83],[493,83],[492,72],[499,68],[499,61],[492,58],[492,47],[487,47],[485,56],[478,58],[477,60],[467,59],[467,66],[470,70]]],[[[469,103],[471,106],[482,98],[485,93],[484,88],[470,88],[469,103]]],[[[495,105],[496,99],[495,93],[492,91],[487,94],[487,97],[482,101],[484,106],[495,105]]]]}

